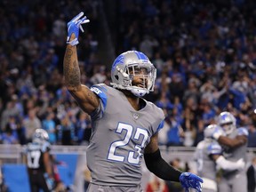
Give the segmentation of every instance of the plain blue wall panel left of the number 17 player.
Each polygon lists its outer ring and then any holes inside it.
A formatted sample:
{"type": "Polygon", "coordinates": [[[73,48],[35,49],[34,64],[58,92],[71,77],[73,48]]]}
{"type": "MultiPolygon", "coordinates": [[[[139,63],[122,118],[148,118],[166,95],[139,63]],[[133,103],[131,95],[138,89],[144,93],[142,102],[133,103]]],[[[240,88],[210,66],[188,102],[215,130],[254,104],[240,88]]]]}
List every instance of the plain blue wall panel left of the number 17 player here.
{"type": "Polygon", "coordinates": [[[4,183],[10,192],[30,192],[25,164],[3,164],[4,183]],[[22,189],[20,187],[22,186],[22,189]]]}

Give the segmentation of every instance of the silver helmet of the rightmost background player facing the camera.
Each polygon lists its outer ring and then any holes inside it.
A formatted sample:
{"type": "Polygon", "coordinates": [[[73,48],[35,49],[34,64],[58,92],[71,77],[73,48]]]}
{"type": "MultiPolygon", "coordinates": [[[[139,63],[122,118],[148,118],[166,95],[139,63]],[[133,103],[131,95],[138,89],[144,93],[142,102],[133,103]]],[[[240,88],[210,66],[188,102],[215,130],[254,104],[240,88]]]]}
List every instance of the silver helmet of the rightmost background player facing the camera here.
{"type": "Polygon", "coordinates": [[[236,118],[228,111],[224,111],[218,117],[218,124],[227,134],[230,134],[236,129],[236,118]]]}

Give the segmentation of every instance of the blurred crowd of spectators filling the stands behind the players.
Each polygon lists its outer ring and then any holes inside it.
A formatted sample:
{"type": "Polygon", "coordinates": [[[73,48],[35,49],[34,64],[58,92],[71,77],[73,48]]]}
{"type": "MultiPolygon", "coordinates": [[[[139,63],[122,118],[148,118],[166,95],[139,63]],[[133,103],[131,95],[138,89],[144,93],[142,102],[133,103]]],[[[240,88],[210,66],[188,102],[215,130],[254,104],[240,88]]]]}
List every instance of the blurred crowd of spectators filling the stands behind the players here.
{"type": "MultiPolygon", "coordinates": [[[[157,68],[147,99],[163,108],[159,143],[196,146],[227,110],[256,147],[256,3],[253,0],[116,0],[116,55],[138,50],[157,68]]],[[[25,144],[37,128],[52,144],[87,144],[90,116],[63,84],[66,23],[83,10],[91,20],[79,40],[82,84],[109,84],[99,57],[97,1],[0,2],[2,143],[25,144]]]]}

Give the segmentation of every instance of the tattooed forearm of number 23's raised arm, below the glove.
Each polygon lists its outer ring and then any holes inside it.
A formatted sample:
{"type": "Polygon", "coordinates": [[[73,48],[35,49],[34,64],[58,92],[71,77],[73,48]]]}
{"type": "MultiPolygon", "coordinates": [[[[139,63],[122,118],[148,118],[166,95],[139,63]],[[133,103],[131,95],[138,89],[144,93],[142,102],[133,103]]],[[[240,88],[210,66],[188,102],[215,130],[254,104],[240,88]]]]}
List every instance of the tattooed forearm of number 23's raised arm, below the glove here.
{"type": "Polygon", "coordinates": [[[65,83],[69,90],[77,91],[81,88],[80,82],[80,68],[78,66],[78,61],[74,57],[74,50],[72,48],[68,48],[64,57],[64,76],[65,83]]]}

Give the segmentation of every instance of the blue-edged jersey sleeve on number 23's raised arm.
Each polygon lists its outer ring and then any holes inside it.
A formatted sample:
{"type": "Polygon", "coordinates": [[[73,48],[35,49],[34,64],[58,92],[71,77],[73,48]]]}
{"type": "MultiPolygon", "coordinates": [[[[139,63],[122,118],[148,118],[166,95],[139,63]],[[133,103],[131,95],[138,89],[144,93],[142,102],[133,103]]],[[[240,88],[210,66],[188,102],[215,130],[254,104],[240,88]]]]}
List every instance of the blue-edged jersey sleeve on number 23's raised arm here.
{"type": "Polygon", "coordinates": [[[103,84],[95,84],[92,85],[91,91],[94,92],[100,98],[100,105],[95,111],[92,112],[91,116],[92,119],[99,118],[103,116],[103,113],[107,107],[107,89],[104,87],[103,84]]]}

